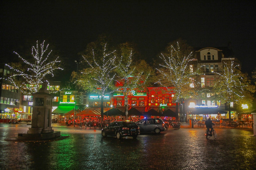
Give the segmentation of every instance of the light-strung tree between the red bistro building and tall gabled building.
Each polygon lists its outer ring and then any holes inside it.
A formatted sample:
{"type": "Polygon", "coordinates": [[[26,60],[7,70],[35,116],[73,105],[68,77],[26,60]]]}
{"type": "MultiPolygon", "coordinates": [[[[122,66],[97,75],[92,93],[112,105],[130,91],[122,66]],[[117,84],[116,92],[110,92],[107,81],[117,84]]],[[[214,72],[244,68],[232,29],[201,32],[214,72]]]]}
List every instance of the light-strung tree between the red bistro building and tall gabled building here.
{"type": "Polygon", "coordinates": [[[159,58],[163,64],[159,64],[160,67],[156,68],[159,77],[156,83],[175,93],[173,100],[178,113],[181,99],[186,100],[196,95],[196,87],[198,87],[196,80],[200,75],[200,69],[193,64],[192,47],[183,40],[170,43],[159,58]]]}

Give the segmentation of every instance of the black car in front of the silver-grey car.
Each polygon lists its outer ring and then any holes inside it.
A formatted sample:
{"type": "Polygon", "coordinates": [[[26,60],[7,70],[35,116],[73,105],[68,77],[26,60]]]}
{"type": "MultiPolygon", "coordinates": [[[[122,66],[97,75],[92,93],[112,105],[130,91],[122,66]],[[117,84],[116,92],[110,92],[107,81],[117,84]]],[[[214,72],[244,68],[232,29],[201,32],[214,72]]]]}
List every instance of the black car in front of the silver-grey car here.
{"type": "Polygon", "coordinates": [[[137,138],[140,134],[140,127],[135,122],[112,122],[105,128],[101,130],[101,135],[106,136],[116,136],[120,139],[125,136],[132,136],[132,138],[137,138]]]}

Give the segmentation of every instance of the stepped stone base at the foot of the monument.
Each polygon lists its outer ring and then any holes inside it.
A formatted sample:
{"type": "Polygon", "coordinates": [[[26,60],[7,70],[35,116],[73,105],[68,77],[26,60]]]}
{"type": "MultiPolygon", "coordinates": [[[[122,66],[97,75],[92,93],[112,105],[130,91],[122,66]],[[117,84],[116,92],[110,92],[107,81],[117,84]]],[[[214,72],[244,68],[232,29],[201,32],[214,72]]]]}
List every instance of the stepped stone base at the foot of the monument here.
{"type": "Polygon", "coordinates": [[[28,133],[18,133],[19,140],[44,140],[60,137],[60,131],[54,131],[52,127],[28,128],[28,133]]]}

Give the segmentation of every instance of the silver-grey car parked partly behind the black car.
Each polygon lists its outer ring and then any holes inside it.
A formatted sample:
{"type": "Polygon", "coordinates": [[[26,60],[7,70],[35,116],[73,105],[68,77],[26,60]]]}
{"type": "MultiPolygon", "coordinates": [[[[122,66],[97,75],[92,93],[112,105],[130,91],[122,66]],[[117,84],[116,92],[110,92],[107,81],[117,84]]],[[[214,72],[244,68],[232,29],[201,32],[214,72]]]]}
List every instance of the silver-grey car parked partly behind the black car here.
{"type": "Polygon", "coordinates": [[[161,131],[165,131],[164,122],[159,118],[144,118],[136,122],[136,124],[140,127],[140,132],[155,132],[160,133],[161,131]]]}

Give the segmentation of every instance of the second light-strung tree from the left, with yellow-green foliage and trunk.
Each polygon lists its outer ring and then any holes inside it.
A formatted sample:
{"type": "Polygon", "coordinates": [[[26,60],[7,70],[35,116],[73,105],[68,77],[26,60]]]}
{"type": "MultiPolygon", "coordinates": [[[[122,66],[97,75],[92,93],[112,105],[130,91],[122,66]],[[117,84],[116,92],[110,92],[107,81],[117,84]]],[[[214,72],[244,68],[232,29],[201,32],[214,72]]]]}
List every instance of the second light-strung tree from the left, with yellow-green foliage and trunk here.
{"type": "Polygon", "coordinates": [[[116,57],[116,50],[108,50],[107,43],[102,42],[90,43],[82,57],[87,68],[79,71],[77,81],[82,89],[100,96],[101,121],[103,121],[104,96],[116,90],[114,79],[122,57],[116,57]]]}

